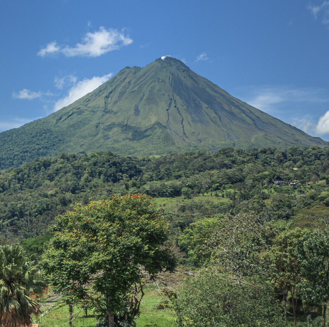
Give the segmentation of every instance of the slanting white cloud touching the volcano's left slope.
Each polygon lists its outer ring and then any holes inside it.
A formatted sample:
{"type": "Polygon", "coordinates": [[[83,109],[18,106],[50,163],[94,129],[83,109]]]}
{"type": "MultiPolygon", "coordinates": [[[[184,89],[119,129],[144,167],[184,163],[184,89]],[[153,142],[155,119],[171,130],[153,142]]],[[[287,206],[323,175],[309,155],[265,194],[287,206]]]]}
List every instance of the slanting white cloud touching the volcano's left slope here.
{"type": "Polygon", "coordinates": [[[110,77],[112,76],[112,73],[106,74],[104,76],[94,76],[90,79],[83,79],[82,81],[79,81],[74,84],[68,91],[67,96],[65,96],[63,99],[60,99],[56,102],[54,106],[54,112],[73,103],[74,101],[80,99],[84,95],[88,94],[89,92],[96,89],[101,84],[105,83],[110,77]]]}

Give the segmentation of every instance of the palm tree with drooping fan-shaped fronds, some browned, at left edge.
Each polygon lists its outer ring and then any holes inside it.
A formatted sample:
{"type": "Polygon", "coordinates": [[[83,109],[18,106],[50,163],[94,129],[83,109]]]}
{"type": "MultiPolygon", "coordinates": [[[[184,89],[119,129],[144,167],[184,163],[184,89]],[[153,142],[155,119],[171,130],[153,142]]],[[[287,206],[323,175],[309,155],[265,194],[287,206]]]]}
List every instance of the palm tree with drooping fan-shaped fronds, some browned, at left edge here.
{"type": "Polygon", "coordinates": [[[36,261],[30,261],[21,246],[0,246],[0,326],[32,323],[32,315],[39,313],[32,295],[44,286],[38,277],[36,261]]]}

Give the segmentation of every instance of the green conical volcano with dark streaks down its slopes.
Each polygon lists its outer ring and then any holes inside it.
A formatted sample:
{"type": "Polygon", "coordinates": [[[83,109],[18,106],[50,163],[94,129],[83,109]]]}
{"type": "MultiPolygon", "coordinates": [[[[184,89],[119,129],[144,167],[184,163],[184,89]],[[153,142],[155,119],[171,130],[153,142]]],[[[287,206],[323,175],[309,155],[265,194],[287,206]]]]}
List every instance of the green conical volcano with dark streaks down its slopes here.
{"type": "Polygon", "coordinates": [[[64,152],[153,155],[196,149],[327,146],[174,58],[126,67],[73,104],[0,133],[0,167],[64,152]]]}

